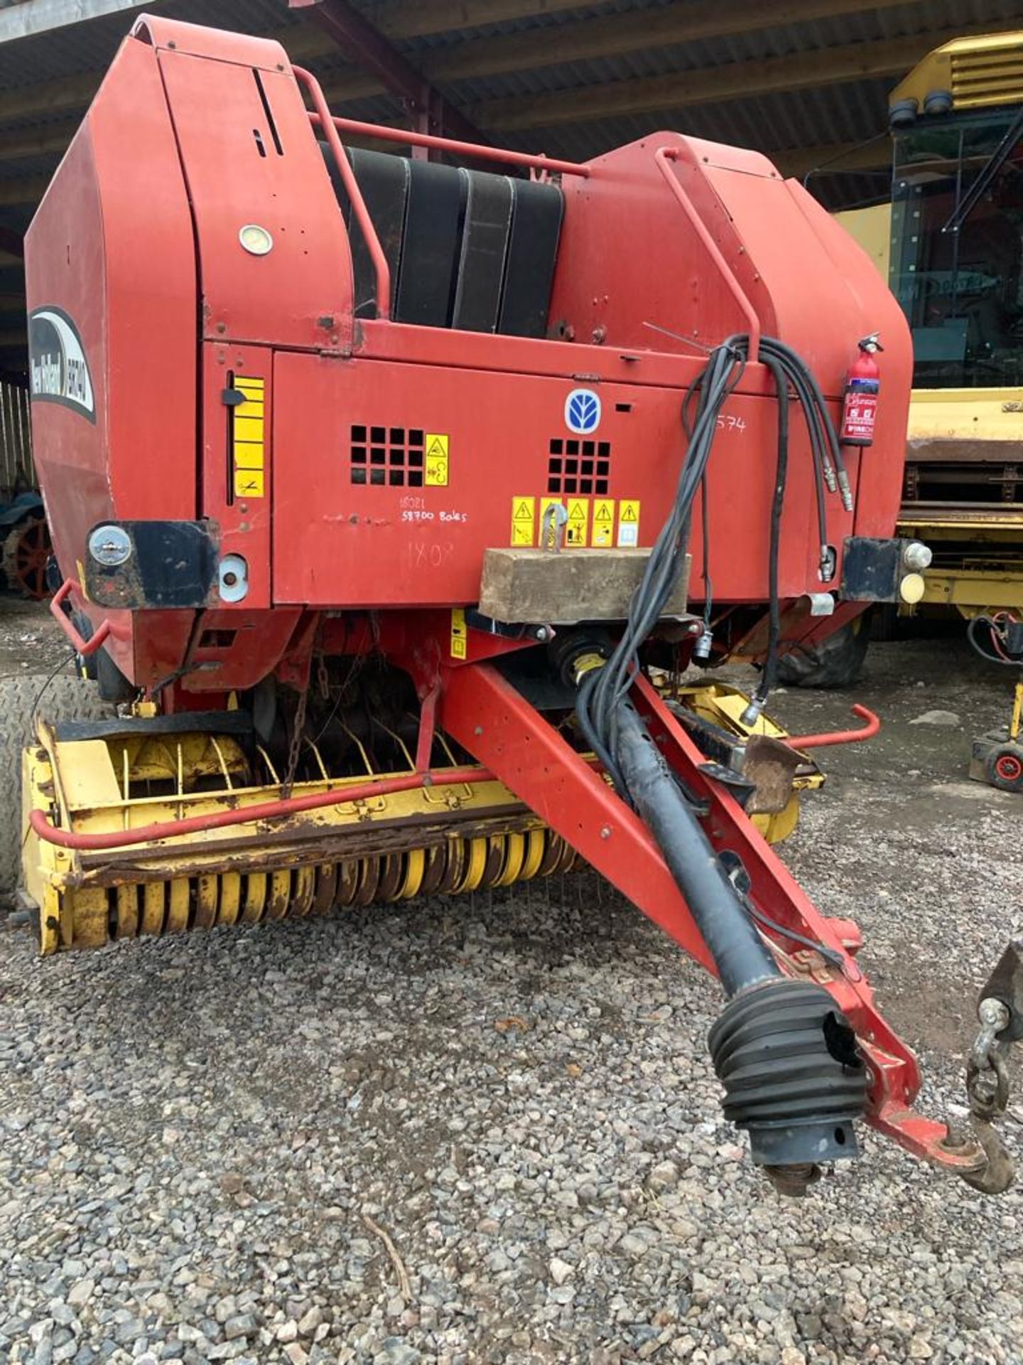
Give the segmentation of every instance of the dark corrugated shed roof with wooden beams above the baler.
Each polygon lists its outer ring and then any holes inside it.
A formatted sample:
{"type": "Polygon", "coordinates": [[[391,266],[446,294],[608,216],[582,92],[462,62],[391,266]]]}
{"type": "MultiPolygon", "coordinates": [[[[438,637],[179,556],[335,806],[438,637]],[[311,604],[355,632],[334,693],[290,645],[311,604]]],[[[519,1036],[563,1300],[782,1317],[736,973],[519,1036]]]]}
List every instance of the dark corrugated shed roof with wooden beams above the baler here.
{"type": "MultiPolygon", "coordinates": [[[[207,23],[222,29],[248,33],[273,33],[285,49],[289,37],[301,45],[301,61],[310,66],[331,91],[338,112],[366,121],[400,121],[398,102],[389,94],[372,93],[367,82],[346,56],[330,45],[315,30],[307,11],[289,11],[286,0],[151,0],[158,12],[192,23],[207,23]],[[310,35],[315,40],[310,44],[310,35]],[[345,100],[345,87],[353,97],[345,100]]],[[[468,3],[468,0],[466,0],[468,3]]],[[[750,146],[769,156],[797,149],[859,143],[873,134],[884,132],[887,123],[888,90],[911,64],[891,72],[877,71],[877,63],[868,64],[863,76],[820,82],[803,89],[780,89],[754,93],[757,72],[762,63],[791,59],[805,67],[801,59],[821,56],[821,72],[827,71],[827,55],[832,49],[865,45],[874,57],[884,53],[885,44],[921,40],[919,55],[951,37],[955,31],[990,31],[1023,25],[1019,0],[906,0],[906,3],[850,8],[844,14],[801,22],[772,22],[772,15],[788,20],[792,10],[772,0],[750,5],[749,26],[741,31],[720,31],[713,37],[693,38],[686,42],[653,41],[647,31],[663,22],[664,11],[674,11],[685,19],[689,14],[708,31],[713,20],[715,0],[599,0],[567,8],[537,10],[517,18],[476,23],[471,27],[420,33],[393,40],[416,68],[451,70],[461,52],[483,52],[483,68],[490,74],[439,78],[441,91],[453,105],[476,116],[495,141],[509,146],[543,150],[570,160],[584,161],[612,146],[634,141],[659,128],[675,128],[711,141],[750,146]],[[629,16],[634,16],[630,25],[629,16]],[[629,29],[614,55],[587,56],[580,35],[588,23],[610,22],[617,18],[629,29]],[[656,16],[656,18],[655,18],[656,16]],[[495,45],[503,38],[521,35],[527,57],[522,70],[495,70],[507,66],[492,60],[495,45]],[[532,45],[532,40],[542,48],[532,45]],[[529,52],[540,52],[540,59],[529,61],[529,52]],[[574,51],[576,49],[576,51],[574,51]],[[727,98],[708,98],[702,83],[708,74],[719,71],[722,81],[739,78],[741,93],[727,98]],[[678,94],[672,100],[671,76],[678,75],[678,94]],[[746,79],[749,78],[749,79],[746,79]],[[602,111],[606,96],[623,93],[626,102],[633,96],[633,82],[667,82],[664,90],[649,96],[653,106],[642,101],[642,109],[619,112],[614,116],[602,111]],[[687,82],[701,83],[701,100],[687,101],[687,82]],[[573,113],[573,97],[578,94],[580,108],[573,113]],[[557,116],[543,124],[543,102],[558,97],[557,116]],[[537,101],[540,112],[531,127],[510,126],[502,131],[501,112],[514,124],[516,101],[537,101]],[[494,112],[496,111],[496,113],[494,112]]],[[[7,0],[0,0],[0,8],[7,0]]],[[[402,0],[355,0],[370,22],[401,14],[402,0]]],[[[70,25],[49,33],[0,44],[0,187],[4,198],[12,198],[11,182],[33,184],[48,177],[57,164],[60,149],[37,149],[45,130],[57,135],[74,126],[89,100],[90,86],[98,85],[113,53],[145,4],[120,14],[86,23],[70,25]],[[33,112],[18,111],[19,91],[56,85],[60,97],[40,104],[33,112]],[[7,116],[4,116],[4,109],[7,116]],[[20,143],[22,152],[18,152],[20,143]]],[[[514,5],[505,5],[505,12],[514,5]]],[[[531,5],[524,4],[524,11],[531,5]]],[[[501,7],[498,7],[501,12],[501,7]]],[[[434,27],[431,14],[447,12],[446,7],[431,11],[419,0],[416,11],[427,19],[420,27],[434,27]]],[[[722,15],[727,22],[722,29],[735,27],[735,0],[722,0],[722,15]]],[[[739,14],[742,14],[739,11],[739,14]]],[[[603,29],[602,29],[603,31],[603,29]]],[[[516,44],[516,52],[520,45],[516,44]]],[[[904,51],[904,49],[900,49],[904,51]]],[[[884,64],[884,63],[883,63],[884,64]]],[[[813,78],[813,72],[810,74],[813,78]]],[[[850,75],[854,75],[850,72],[850,75]]],[[[801,82],[806,85],[805,81],[801,82]]],[[[22,101],[23,102],[23,101],[22,101]]],[[[636,102],[636,101],[633,101],[636,102]]],[[[827,156],[827,153],[822,153],[827,156]]],[[[813,157],[803,157],[810,165],[813,157]]],[[[884,186],[884,175],[855,172],[842,173],[840,162],[827,173],[813,177],[813,186],[831,205],[859,202],[884,186]]],[[[30,205],[0,205],[0,227],[23,231],[31,213],[30,205]]],[[[11,266],[0,266],[3,277],[11,266]]],[[[8,322],[10,325],[10,322],[8,322]]]]}

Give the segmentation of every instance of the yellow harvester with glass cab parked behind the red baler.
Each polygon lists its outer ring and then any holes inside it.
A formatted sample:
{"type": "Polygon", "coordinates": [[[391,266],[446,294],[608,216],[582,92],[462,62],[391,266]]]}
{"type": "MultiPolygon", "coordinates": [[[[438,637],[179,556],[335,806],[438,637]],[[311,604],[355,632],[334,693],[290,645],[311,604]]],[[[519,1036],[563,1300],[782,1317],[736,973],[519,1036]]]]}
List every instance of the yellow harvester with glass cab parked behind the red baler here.
{"type": "Polygon", "coordinates": [[[899,534],[925,605],[1023,617],[1023,33],[937,48],[889,117],[889,202],[837,217],[913,329],[899,534]]]}

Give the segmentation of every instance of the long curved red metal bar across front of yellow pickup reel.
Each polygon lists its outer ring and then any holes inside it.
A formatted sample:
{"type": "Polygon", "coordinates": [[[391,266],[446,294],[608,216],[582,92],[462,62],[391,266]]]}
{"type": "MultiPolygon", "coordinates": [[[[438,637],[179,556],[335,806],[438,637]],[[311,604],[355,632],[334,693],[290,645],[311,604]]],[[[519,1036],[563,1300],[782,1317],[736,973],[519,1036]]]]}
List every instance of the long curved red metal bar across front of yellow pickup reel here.
{"type": "Polygon", "coordinates": [[[281,819],[286,815],[299,815],[301,811],[318,811],[325,805],[366,801],[370,797],[390,796],[394,792],[415,792],[427,786],[461,786],[462,784],[472,786],[477,782],[492,781],[495,781],[494,774],[488,768],[480,767],[445,768],[442,773],[406,773],[401,777],[359,782],[356,786],[292,796],[285,801],[263,801],[259,805],[240,807],[233,811],[211,811],[209,815],[190,815],[184,820],[161,820],[157,824],[143,824],[138,830],[110,830],[102,834],[61,830],[50,823],[42,811],[33,811],[29,823],[41,839],[57,844],[63,849],[119,849],[131,844],[149,844],[153,839],[177,838],[181,834],[199,834],[203,830],[221,830],[231,824],[281,819]]]}

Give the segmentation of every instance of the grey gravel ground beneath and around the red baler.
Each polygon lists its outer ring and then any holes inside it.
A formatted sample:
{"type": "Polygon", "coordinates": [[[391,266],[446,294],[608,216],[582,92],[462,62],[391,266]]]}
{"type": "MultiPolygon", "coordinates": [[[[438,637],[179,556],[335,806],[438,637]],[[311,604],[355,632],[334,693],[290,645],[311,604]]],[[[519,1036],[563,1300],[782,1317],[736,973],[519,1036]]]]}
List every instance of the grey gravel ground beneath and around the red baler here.
{"type": "MultiPolygon", "coordinates": [[[[786,857],[947,1115],[1020,919],[1020,799],[964,778],[1008,682],[911,642],[858,696],[885,730],[786,857]]],[[[779,1198],[720,1119],[713,983],[592,875],[45,962],[10,931],[0,999],[0,1361],[1023,1361],[1020,1194],[868,1133],[779,1198]]]]}

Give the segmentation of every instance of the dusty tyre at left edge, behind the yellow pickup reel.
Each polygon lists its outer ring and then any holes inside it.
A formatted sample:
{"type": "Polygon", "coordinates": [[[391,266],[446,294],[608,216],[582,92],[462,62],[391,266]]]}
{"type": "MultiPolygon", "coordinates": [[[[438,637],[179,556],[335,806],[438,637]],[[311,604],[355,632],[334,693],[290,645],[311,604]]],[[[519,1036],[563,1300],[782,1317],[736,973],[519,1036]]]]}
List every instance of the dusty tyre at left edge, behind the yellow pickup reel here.
{"type": "MultiPolygon", "coordinates": [[[[22,879],[22,749],[35,738],[35,699],[41,677],[0,680],[0,897],[11,897],[22,879]]],[[[40,699],[46,721],[94,721],[110,715],[94,682],[56,677],[40,699]]]]}

